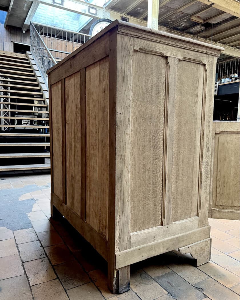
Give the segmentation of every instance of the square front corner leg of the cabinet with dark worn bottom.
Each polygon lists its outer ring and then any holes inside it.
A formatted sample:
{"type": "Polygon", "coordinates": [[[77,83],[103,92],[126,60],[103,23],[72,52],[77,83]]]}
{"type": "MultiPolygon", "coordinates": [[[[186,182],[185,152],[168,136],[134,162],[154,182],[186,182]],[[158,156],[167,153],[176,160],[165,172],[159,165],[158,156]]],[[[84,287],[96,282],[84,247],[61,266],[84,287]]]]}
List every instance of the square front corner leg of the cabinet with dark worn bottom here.
{"type": "Polygon", "coordinates": [[[114,270],[113,274],[109,272],[108,286],[114,293],[122,294],[128,292],[130,289],[130,265],[114,270]]]}

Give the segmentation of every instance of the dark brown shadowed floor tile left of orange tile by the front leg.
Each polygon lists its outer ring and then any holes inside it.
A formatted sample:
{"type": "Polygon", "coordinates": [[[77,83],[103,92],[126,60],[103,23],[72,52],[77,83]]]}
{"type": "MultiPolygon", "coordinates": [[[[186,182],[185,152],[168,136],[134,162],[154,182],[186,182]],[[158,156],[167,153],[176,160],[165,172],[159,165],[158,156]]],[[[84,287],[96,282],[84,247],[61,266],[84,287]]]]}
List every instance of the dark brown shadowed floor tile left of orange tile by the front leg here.
{"type": "Polygon", "coordinates": [[[54,268],[65,289],[72,289],[91,281],[76,260],[56,265],[54,268]]]}

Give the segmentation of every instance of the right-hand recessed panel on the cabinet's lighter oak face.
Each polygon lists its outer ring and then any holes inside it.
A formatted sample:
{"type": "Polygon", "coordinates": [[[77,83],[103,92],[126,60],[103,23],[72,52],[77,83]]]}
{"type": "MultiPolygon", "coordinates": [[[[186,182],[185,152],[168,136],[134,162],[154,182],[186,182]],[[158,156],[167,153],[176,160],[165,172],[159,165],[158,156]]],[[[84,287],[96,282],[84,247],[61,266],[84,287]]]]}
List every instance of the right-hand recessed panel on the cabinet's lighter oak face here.
{"type": "Polygon", "coordinates": [[[179,60],[173,143],[173,222],[197,215],[204,65],[179,60]]]}

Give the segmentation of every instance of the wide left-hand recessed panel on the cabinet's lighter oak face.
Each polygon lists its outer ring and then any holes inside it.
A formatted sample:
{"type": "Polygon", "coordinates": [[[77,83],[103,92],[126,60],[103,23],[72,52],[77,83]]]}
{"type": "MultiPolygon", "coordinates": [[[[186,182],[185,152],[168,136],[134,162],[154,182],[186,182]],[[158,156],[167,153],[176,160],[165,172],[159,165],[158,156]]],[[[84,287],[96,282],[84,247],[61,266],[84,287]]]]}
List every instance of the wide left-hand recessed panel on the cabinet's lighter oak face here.
{"type": "Polygon", "coordinates": [[[165,77],[166,58],[134,52],[131,232],[161,225],[165,77]]]}

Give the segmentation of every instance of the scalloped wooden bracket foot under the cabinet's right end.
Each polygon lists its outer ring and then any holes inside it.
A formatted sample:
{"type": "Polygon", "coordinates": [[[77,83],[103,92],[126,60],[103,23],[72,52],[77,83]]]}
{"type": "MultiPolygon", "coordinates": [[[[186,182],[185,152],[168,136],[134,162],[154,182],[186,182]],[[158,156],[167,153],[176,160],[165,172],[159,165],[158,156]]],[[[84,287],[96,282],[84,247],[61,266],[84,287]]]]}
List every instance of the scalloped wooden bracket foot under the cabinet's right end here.
{"type": "Polygon", "coordinates": [[[205,240],[190,244],[185,247],[178,249],[180,253],[190,253],[193,258],[195,258],[196,267],[209,262],[211,259],[211,238],[206,238],[205,240]]]}

